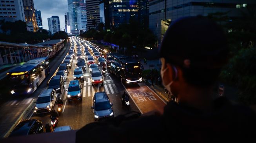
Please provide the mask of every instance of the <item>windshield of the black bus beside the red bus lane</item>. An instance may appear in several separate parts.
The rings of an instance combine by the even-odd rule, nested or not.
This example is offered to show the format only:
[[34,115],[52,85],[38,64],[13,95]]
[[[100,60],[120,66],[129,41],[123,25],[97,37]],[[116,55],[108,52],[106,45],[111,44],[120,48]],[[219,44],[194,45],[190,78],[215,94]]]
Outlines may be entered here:
[[136,78],[142,75],[139,63],[126,64],[125,69],[126,69],[127,76],[131,78]]

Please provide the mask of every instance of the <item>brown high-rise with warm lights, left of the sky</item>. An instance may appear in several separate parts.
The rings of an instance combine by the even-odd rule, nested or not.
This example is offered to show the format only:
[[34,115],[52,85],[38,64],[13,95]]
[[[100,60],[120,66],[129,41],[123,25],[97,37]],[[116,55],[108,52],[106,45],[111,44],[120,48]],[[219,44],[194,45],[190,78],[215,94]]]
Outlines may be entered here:
[[38,30],[38,27],[36,24],[36,10],[34,9],[34,0],[23,0],[23,6],[25,21],[27,23],[27,26],[29,27],[29,31],[36,32]]

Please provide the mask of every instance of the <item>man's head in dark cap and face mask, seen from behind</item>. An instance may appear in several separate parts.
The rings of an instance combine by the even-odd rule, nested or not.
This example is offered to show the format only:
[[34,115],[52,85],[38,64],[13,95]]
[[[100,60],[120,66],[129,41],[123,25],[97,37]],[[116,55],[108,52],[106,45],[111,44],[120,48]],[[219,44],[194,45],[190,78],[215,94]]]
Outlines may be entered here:
[[181,84],[204,88],[216,82],[227,61],[227,41],[214,21],[185,17],[171,23],[159,54],[163,84],[170,86],[167,89],[176,90]]

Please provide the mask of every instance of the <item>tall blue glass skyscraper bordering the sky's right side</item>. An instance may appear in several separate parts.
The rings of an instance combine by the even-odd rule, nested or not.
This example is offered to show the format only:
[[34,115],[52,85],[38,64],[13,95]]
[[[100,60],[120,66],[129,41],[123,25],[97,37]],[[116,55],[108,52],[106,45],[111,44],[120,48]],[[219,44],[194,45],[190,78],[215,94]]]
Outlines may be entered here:
[[80,3],[84,3],[84,0],[67,0],[69,10],[69,25],[71,30],[78,30],[77,27],[77,7]]

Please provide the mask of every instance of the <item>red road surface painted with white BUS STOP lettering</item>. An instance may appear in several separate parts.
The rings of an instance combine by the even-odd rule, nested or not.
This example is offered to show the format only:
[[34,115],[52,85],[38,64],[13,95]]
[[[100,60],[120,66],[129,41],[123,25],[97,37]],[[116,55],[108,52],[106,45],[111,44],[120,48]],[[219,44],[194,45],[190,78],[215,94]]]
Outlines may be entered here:
[[166,103],[144,83],[139,83],[138,85],[140,87],[130,87],[126,89],[140,111],[147,113],[149,111],[158,110],[160,113],[163,113],[163,108]]

